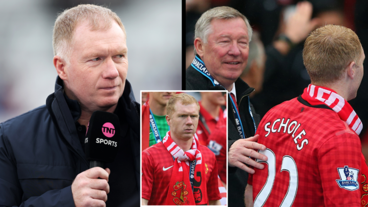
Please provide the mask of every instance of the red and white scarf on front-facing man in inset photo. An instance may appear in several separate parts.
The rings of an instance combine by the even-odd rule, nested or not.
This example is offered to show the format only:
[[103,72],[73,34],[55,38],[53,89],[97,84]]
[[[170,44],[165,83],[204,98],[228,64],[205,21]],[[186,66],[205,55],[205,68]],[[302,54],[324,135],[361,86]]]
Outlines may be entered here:
[[[199,151],[198,139],[193,137],[192,147],[186,152],[172,140],[170,131],[166,133],[162,143],[175,159],[165,205],[208,205],[205,163]],[[195,183],[193,183],[194,193],[187,170],[190,164],[189,161],[193,160],[196,160],[194,170]]]

